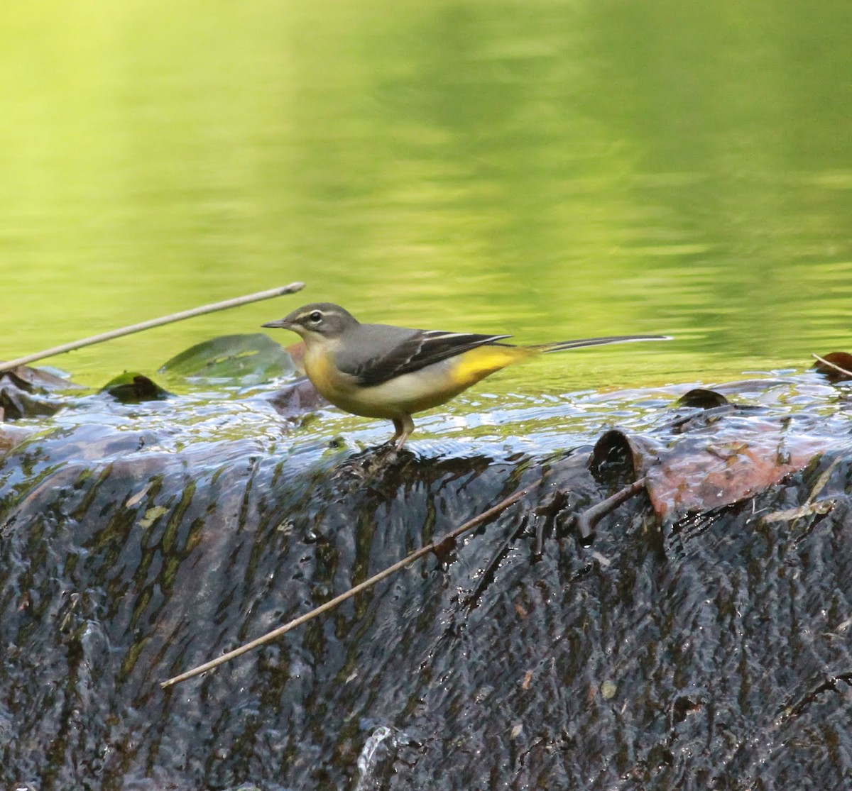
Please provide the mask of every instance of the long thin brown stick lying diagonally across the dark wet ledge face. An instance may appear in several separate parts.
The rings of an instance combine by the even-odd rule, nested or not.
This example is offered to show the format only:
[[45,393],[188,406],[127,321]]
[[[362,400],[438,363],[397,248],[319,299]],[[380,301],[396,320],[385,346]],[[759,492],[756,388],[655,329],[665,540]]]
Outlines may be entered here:
[[473,530],[478,524],[482,524],[487,519],[491,519],[493,516],[497,516],[498,513],[505,511],[510,505],[515,502],[518,502],[521,497],[529,494],[533,489],[535,489],[538,484],[541,483],[541,479],[538,479],[533,484],[529,484],[524,489],[518,490],[514,495],[509,495],[505,500],[498,502],[496,506],[490,507],[487,511],[483,511],[478,516],[475,516],[473,519],[470,519],[468,522],[465,522],[460,527],[457,527],[452,532],[447,533],[446,536],[440,539],[440,541],[432,542],[431,544],[427,544],[425,547],[420,547],[420,549],[415,550],[410,555],[407,555],[405,558],[398,560],[394,565],[388,566],[388,568],[379,571],[378,574],[371,576],[370,579],[361,582],[359,585],[356,585],[354,588],[349,588],[345,593],[341,593],[339,596],[335,596],[334,599],[330,599],[325,602],[324,605],[320,605],[316,607],[314,610],[310,612],[306,612],[303,616],[298,616],[294,618],[291,622],[285,623],[284,626],[279,626],[277,629],[273,629],[271,632],[264,634],[262,637],[252,640],[250,643],[245,643],[245,645],[240,645],[239,648],[235,648],[233,651],[228,651],[227,654],[222,654],[222,656],[217,656],[216,659],[210,660],[210,662],[204,662],[203,665],[199,665],[197,668],[193,668],[192,670],[187,670],[186,673],[181,673],[180,675],[175,676],[174,678],[169,679],[168,681],[160,682],[160,686],[165,689],[166,687],[170,687],[174,684],[180,684],[181,681],[186,681],[187,679],[193,678],[193,676],[197,676],[200,673],[206,673],[208,670],[212,670],[213,668],[217,668],[219,665],[224,662],[229,662],[230,660],[240,656],[241,654],[245,654],[247,651],[251,651],[256,648],[258,645],[263,645],[264,643],[268,643],[270,640],[276,639],[280,637],[282,634],[289,632],[291,629],[295,629],[297,626],[301,626],[302,623],[307,623],[308,621],[313,620],[315,617],[322,615],[324,612],[328,612],[328,610],[333,610],[337,605],[343,604],[347,599],[351,599],[353,596],[357,595],[361,591],[366,591],[367,588],[372,588],[377,582],[381,582],[386,576],[391,576],[395,574],[397,571],[404,569],[407,565],[411,565],[415,560],[422,558],[423,555],[427,555],[430,552],[435,552],[441,544],[445,542],[454,542],[458,536],[462,536],[463,533],[468,532],[468,530]]

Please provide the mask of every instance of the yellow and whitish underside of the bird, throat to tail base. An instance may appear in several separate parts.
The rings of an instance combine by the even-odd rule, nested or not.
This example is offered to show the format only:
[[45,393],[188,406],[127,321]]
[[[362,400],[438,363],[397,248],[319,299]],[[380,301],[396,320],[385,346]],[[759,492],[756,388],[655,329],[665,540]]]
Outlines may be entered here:
[[538,354],[537,349],[525,347],[477,347],[373,387],[355,385],[316,349],[305,353],[305,370],[314,387],[332,404],[354,415],[393,419],[443,404],[487,375],[534,354]]

